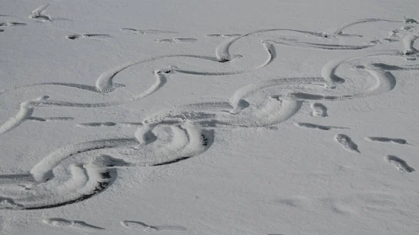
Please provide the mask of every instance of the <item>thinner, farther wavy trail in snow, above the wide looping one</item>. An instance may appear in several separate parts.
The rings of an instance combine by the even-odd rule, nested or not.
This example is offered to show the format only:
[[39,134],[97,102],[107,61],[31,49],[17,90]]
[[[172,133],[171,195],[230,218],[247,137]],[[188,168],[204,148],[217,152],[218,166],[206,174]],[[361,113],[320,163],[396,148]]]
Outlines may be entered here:
[[[47,5],[44,6],[45,9]],[[339,36],[341,35],[341,31],[343,29],[345,29],[346,27],[349,27],[351,25],[355,25],[355,24],[360,24],[360,23],[366,23],[366,22],[376,22],[376,21],[383,21],[383,22],[399,22],[399,21],[392,21],[392,20],[380,20],[380,19],[365,19],[365,20],[358,20],[356,22],[352,22],[348,25],[346,25],[345,27],[342,27],[341,29],[335,31],[332,35],[333,36]],[[136,62],[127,62],[125,64],[121,64],[119,66],[116,66],[113,69],[110,69],[109,71],[105,71],[104,73],[101,74],[101,76],[99,76],[99,78],[96,80],[96,85],[92,86],[92,85],[82,85],[82,84],[76,84],[76,83],[36,83],[36,84],[32,84],[32,85],[22,85],[20,87],[15,87],[13,89],[9,89],[9,90],[4,90],[2,92],[0,92],[0,94],[4,94],[6,92],[10,92],[13,90],[18,90],[24,87],[32,87],[32,86],[40,86],[40,85],[59,85],[59,86],[66,86],[66,87],[72,87],[72,88],[78,88],[81,90],[87,90],[90,92],[96,92],[99,94],[106,94],[106,93],[110,93],[113,92],[115,89],[119,88],[119,87],[124,87],[125,85],[123,84],[119,84],[119,83],[113,83],[113,79],[115,78],[115,76],[117,75],[117,73],[123,71],[124,69],[127,69],[131,66],[135,66],[138,64],[142,64],[145,62],[153,62],[159,59],[164,59],[164,58],[172,58],[172,57],[190,57],[190,58],[195,58],[195,59],[203,59],[203,60],[208,60],[208,61],[212,61],[212,62],[228,62],[232,59],[238,59],[241,56],[240,55],[235,55],[235,56],[231,56],[230,52],[229,52],[229,48],[230,45],[232,45],[233,43],[235,43],[238,39],[240,38],[244,38],[247,36],[251,36],[253,34],[260,34],[260,33],[264,33],[264,32],[272,32],[272,31],[291,31],[291,32],[296,32],[299,34],[303,34],[303,35],[309,35],[309,36],[316,36],[318,38],[325,38],[325,33],[317,33],[317,32],[312,32],[312,31],[302,31],[302,30],[297,30],[297,29],[262,29],[262,30],[258,30],[258,31],[253,31],[249,34],[244,34],[242,36],[237,36],[229,41],[226,41],[225,43],[221,43],[221,45],[219,45],[218,48],[216,48],[216,57],[207,57],[207,56],[199,56],[199,55],[163,55],[160,57],[152,57],[149,59],[142,59],[140,61],[136,61]],[[142,99],[144,97],[149,96],[150,94],[153,94],[154,92],[156,92],[157,90],[159,90],[160,87],[162,87],[165,83],[166,83],[166,79],[161,78],[161,76],[158,76],[157,74],[166,71],[166,73],[171,73],[173,71],[177,72],[177,73],[186,73],[186,74],[196,74],[196,75],[202,75],[202,76],[224,76],[224,75],[234,75],[234,74],[240,74],[240,73],[249,73],[251,71],[256,71],[258,69],[262,69],[263,67],[267,66],[268,64],[270,64],[270,62],[272,62],[272,60],[276,57],[276,52],[275,52],[275,48],[274,45],[272,43],[282,43],[284,44],[284,42],[280,42],[280,41],[263,41],[262,45],[263,48],[265,49],[265,51],[267,51],[267,59],[265,59],[265,62],[260,62],[260,63],[256,63],[256,66],[254,66],[253,68],[244,68],[242,70],[238,70],[238,71],[196,71],[196,70],[190,70],[190,69],[179,69],[177,68],[177,66],[170,66],[170,68],[168,69],[157,69],[156,71],[154,71],[155,73],[155,77],[156,77],[156,83],[154,83],[154,85],[152,85],[152,87],[149,87],[148,90],[146,90],[145,92],[142,92],[141,94],[137,94],[133,97],[130,97],[129,99],[123,99],[123,100],[119,100],[119,101],[108,101],[108,102],[103,102],[103,103],[95,103],[95,104],[88,104],[88,103],[77,103],[77,102],[67,102],[67,101],[54,101],[54,100],[49,100],[47,102],[45,102],[43,105],[44,106],[70,106],[70,107],[76,107],[76,108],[94,108],[94,107],[104,107],[104,106],[116,106],[119,104],[125,104],[127,102],[130,101],[136,101],[138,99]],[[287,45],[287,44],[285,44]],[[327,45],[327,44],[316,44],[316,43],[302,43],[302,42],[297,42],[298,47],[302,47],[302,48],[317,48],[317,49],[322,49],[322,50],[356,50],[356,49],[363,49],[363,48],[367,48],[369,46],[372,45],[367,45],[367,46],[363,46],[363,45]],[[288,45],[289,46],[289,45]],[[294,46],[294,45],[291,45]]]

